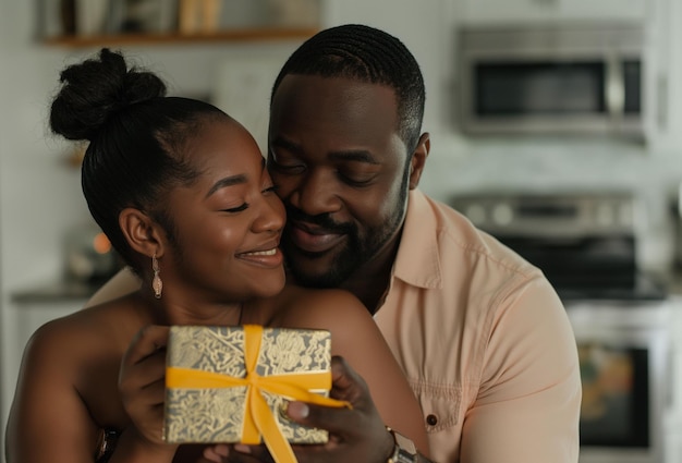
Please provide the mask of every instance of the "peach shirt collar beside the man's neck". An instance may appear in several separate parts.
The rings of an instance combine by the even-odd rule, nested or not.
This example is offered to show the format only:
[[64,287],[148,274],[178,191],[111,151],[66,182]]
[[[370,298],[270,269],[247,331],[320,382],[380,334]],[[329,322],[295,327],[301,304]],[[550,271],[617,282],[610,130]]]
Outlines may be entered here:
[[441,288],[438,222],[426,195],[410,191],[393,276],[418,288]]

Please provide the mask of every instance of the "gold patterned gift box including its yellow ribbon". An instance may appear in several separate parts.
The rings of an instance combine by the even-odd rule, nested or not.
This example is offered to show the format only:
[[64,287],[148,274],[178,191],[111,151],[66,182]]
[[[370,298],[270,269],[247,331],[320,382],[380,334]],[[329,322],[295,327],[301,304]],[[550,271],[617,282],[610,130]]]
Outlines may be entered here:
[[[290,452],[288,442],[326,442],[327,431],[290,422],[282,412],[291,400],[346,405],[328,398],[330,349],[330,333],[325,330],[171,327],[166,441],[257,444],[263,440],[271,453]],[[281,447],[289,450],[277,450]]]

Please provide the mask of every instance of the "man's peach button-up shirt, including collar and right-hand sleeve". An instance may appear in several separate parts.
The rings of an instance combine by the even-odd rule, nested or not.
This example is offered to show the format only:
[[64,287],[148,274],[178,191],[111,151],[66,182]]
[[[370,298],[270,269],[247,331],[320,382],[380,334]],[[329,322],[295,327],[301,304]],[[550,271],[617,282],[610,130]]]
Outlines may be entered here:
[[375,320],[419,398],[435,461],[577,462],[577,349],[557,293],[419,191]]

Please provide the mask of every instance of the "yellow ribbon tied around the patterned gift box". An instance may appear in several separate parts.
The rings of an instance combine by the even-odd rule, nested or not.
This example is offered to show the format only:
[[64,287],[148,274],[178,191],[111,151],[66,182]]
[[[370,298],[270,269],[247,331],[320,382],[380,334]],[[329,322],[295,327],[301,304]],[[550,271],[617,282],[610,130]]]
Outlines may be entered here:
[[175,389],[217,389],[246,387],[246,413],[242,443],[258,444],[260,436],[270,454],[278,463],[296,463],[296,456],[261,391],[283,395],[289,400],[309,402],[326,406],[348,406],[350,403],[330,399],[309,391],[309,389],[331,388],[331,375],[328,371],[301,371],[284,375],[259,376],[256,371],[263,327],[244,325],[244,363],[246,376],[235,378],[220,373],[205,371],[192,368],[168,367],[166,370],[166,387]]

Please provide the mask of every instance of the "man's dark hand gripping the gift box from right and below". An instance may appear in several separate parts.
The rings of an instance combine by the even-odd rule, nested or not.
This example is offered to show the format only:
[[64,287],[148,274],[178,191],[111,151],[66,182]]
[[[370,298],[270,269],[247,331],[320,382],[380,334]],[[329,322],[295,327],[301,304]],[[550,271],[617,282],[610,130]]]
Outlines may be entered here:
[[[377,412],[365,381],[343,358],[331,361],[334,399],[350,402],[353,409],[332,409],[303,402],[291,402],[289,417],[299,424],[327,429],[325,444],[292,446],[300,463],[385,463],[391,455],[393,438]],[[214,446],[204,455],[217,463],[271,462],[264,446]]]

